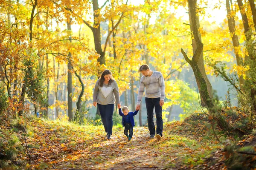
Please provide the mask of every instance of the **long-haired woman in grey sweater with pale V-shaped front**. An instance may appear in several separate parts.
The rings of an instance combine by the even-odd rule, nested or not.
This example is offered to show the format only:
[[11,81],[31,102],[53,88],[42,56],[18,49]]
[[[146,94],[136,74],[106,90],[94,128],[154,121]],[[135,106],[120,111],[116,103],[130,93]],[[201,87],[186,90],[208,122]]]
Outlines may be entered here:
[[98,104],[102,123],[107,132],[107,139],[111,139],[113,127],[113,112],[115,101],[118,108],[121,108],[119,89],[112,77],[110,70],[103,71],[100,79],[97,80],[93,91],[93,105]]

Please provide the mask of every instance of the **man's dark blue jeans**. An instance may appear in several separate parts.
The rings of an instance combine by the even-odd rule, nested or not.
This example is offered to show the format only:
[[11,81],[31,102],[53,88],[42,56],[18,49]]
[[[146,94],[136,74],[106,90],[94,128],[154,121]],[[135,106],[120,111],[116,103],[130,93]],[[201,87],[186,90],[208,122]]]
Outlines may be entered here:
[[157,134],[162,136],[163,133],[163,118],[162,118],[162,106],[160,106],[160,97],[159,98],[148,98],[145,97],[147,114],[148,114],[148,130],[150,135],[155,135],[156,130],[153,120],[153,109],[155,109],[157,117]]

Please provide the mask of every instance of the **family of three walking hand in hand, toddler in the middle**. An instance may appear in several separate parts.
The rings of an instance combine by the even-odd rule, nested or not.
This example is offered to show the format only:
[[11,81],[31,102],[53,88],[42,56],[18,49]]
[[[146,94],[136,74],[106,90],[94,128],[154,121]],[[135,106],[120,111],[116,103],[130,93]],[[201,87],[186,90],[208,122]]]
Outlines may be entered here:
[[[137,96],[136,111],[129,112],[129,108],[124,106],[121,110],[121,102],[119,98],[119,89],[116,81],[112,77],[110,70],[102,72],[101,77],[97,80],[93,91],[93,105],[98,105],[99,113],[102,119],[107,139],[111,139],[113,127],[113,111],[115,102],[119,109],[119,115],[122,116],[122,125],[125,127],[124,134],[128,140],[133,136],[134,115],[140,110],[140,102],[145,88],[145,103],[148,118],[149,138],[154,139],[155,135],[158,140],[161,139],[163,133],[162,106],[164,104],[164,79],[163,75],[158,71],[152,71],[148,65],[141,65],[138,72],[142,73],[140,79],[140,87]],[[154,113],[157,118],[157,128],[154,125]],[[128,134],[129,130],[129,134]]]

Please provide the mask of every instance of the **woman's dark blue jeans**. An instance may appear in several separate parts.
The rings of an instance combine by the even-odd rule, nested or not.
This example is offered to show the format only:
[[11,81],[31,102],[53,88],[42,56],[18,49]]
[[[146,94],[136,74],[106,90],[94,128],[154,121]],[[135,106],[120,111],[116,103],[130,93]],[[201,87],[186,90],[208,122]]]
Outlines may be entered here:
[[100,105],[98,103],[102,123],[108,135],[112,135],[114,106],[115,104]]

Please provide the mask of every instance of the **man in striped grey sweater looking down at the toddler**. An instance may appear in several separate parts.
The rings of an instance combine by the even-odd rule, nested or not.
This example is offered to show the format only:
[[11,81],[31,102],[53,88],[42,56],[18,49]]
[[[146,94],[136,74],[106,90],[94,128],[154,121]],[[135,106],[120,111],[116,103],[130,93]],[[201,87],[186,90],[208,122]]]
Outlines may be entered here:
[[157,117],[157,139],[161,139],[163,133],[162,106],[164,103],[164,79],[162,73],[151,71],[148,65],[141,65],[138,72],[142,73],[140,79],[140,88],[137,97],[136,110],[140,110],[140,102],[145,88],[145,102],[148,115],[148,130],[150,138],[153,139],[156,130],[153,120],[153,109]]

